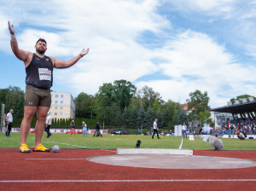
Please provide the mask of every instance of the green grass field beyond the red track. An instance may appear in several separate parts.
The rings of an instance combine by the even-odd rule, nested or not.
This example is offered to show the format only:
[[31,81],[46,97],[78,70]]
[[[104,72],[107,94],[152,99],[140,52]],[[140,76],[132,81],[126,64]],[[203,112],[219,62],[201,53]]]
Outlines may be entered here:
[[[30,133],[27,137],[27,145],[32,148],[35,134]],[[119,136],[103,135],[103,137],[83,137],[83,135],[70,136],[67,134],[52,134],[50,138],[45,138],[42,143],[45,147],[52,148],[59,145],[61,148],[135,148],[137,140],[142,141],[141,148],[179,148],[182,137],[161,136],[161,139],[151,139],[151,136]],[[256,150],[256,140],[246,139],[222,139],[224,143],[223,150]],[[0,133],[0,148],[19,148],[20,133],[12,133],[11,137],[6,137]],[[193,150],[212,150],[208,142],[201,141],[201,138],[195,137],[195,141],[189,141],[189,138],[183,139],[183,147]]]

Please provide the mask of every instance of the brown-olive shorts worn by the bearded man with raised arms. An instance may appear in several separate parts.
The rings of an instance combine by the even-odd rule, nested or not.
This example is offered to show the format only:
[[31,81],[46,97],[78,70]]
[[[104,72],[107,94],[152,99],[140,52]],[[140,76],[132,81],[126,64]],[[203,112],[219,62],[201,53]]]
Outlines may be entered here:
[[26,92],[24,96],[25,106],[43,106],[50,107],[51,96],[50,90],[42,90],[26,85]]

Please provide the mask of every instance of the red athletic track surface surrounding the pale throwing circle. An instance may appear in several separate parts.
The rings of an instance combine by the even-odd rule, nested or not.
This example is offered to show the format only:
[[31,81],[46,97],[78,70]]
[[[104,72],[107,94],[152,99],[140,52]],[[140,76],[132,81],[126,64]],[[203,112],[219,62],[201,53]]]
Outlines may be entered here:
[[[226,170],[162,170],[101,165],[87,160],[91,156],[114,153],[114,150],[99,149],[61,149],[61,153],[19,153],[18,149],[1,148],[0,190],[235,191],[255,190],[256,188],[256,167]],[[256,161],[256,151],[194,151],[194,154]],[[196,182],[196,180],[206,179],[229,179],[229,181]],[[234,179],[243,181],[230,181]],[[251,181],[247,181],[248,179]],[[38,182],[3,182],[21,180],[38,180]],[[56,182],[39,182],[44,180]],[[87,180],[92,182],[57,182],[58,180]],[[95,180],[179,180],[179,182],[93,182]]]

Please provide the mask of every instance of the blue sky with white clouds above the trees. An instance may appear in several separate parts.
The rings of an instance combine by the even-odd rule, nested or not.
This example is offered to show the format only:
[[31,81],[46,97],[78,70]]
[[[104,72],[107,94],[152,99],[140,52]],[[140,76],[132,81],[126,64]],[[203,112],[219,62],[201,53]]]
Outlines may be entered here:
[[0,2],[0,88],[25,89],[25,68],[9,46],[8,20],[20,49],[68,60],[55,69],[54,91],[94,95],[103,83],[126,79],[162,98],[184,103],[207,91],[211,107],[232,97],[256,96],[256,2],[245,0],[80,0]]

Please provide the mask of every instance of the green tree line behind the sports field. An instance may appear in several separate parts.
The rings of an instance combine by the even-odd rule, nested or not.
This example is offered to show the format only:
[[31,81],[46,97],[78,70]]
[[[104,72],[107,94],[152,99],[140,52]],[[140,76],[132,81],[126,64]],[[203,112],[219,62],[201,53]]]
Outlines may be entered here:
[[[195,121],[204,123],[209,118],[209,97],[207,92],[195,90],[187,100],[189,114],[183,110],[180,103],[172,100],[163,101],[160,93],[144,86],[141,90],[125,79],[113,83],[102,84],[96,95],[81,92],[75,97],[75,122],[78,126],[82,121],[89,127],[94,127],[96,121],[108,128],[149,129],[157,118],[161,129],[173,130],[175,124]],[[9,86],[0,89],[0,103],[5,104],[5,113],[12,108],[15,110],[14,123],[21,123],[23,117],[24,92],[18,87]],[[32,127],[36,119],[32,120]],[[54,119],[52,127],[68,128],[71,119]],[[18,125],[19,126],[19,125]]]

